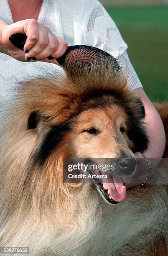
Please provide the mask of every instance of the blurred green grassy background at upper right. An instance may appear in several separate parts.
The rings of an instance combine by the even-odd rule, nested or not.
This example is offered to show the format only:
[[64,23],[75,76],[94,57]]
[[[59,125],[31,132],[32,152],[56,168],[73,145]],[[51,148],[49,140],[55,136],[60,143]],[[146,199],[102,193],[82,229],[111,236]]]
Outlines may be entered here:
[[100,0],[117,24],[144,90],[168,101],[168,0]]

